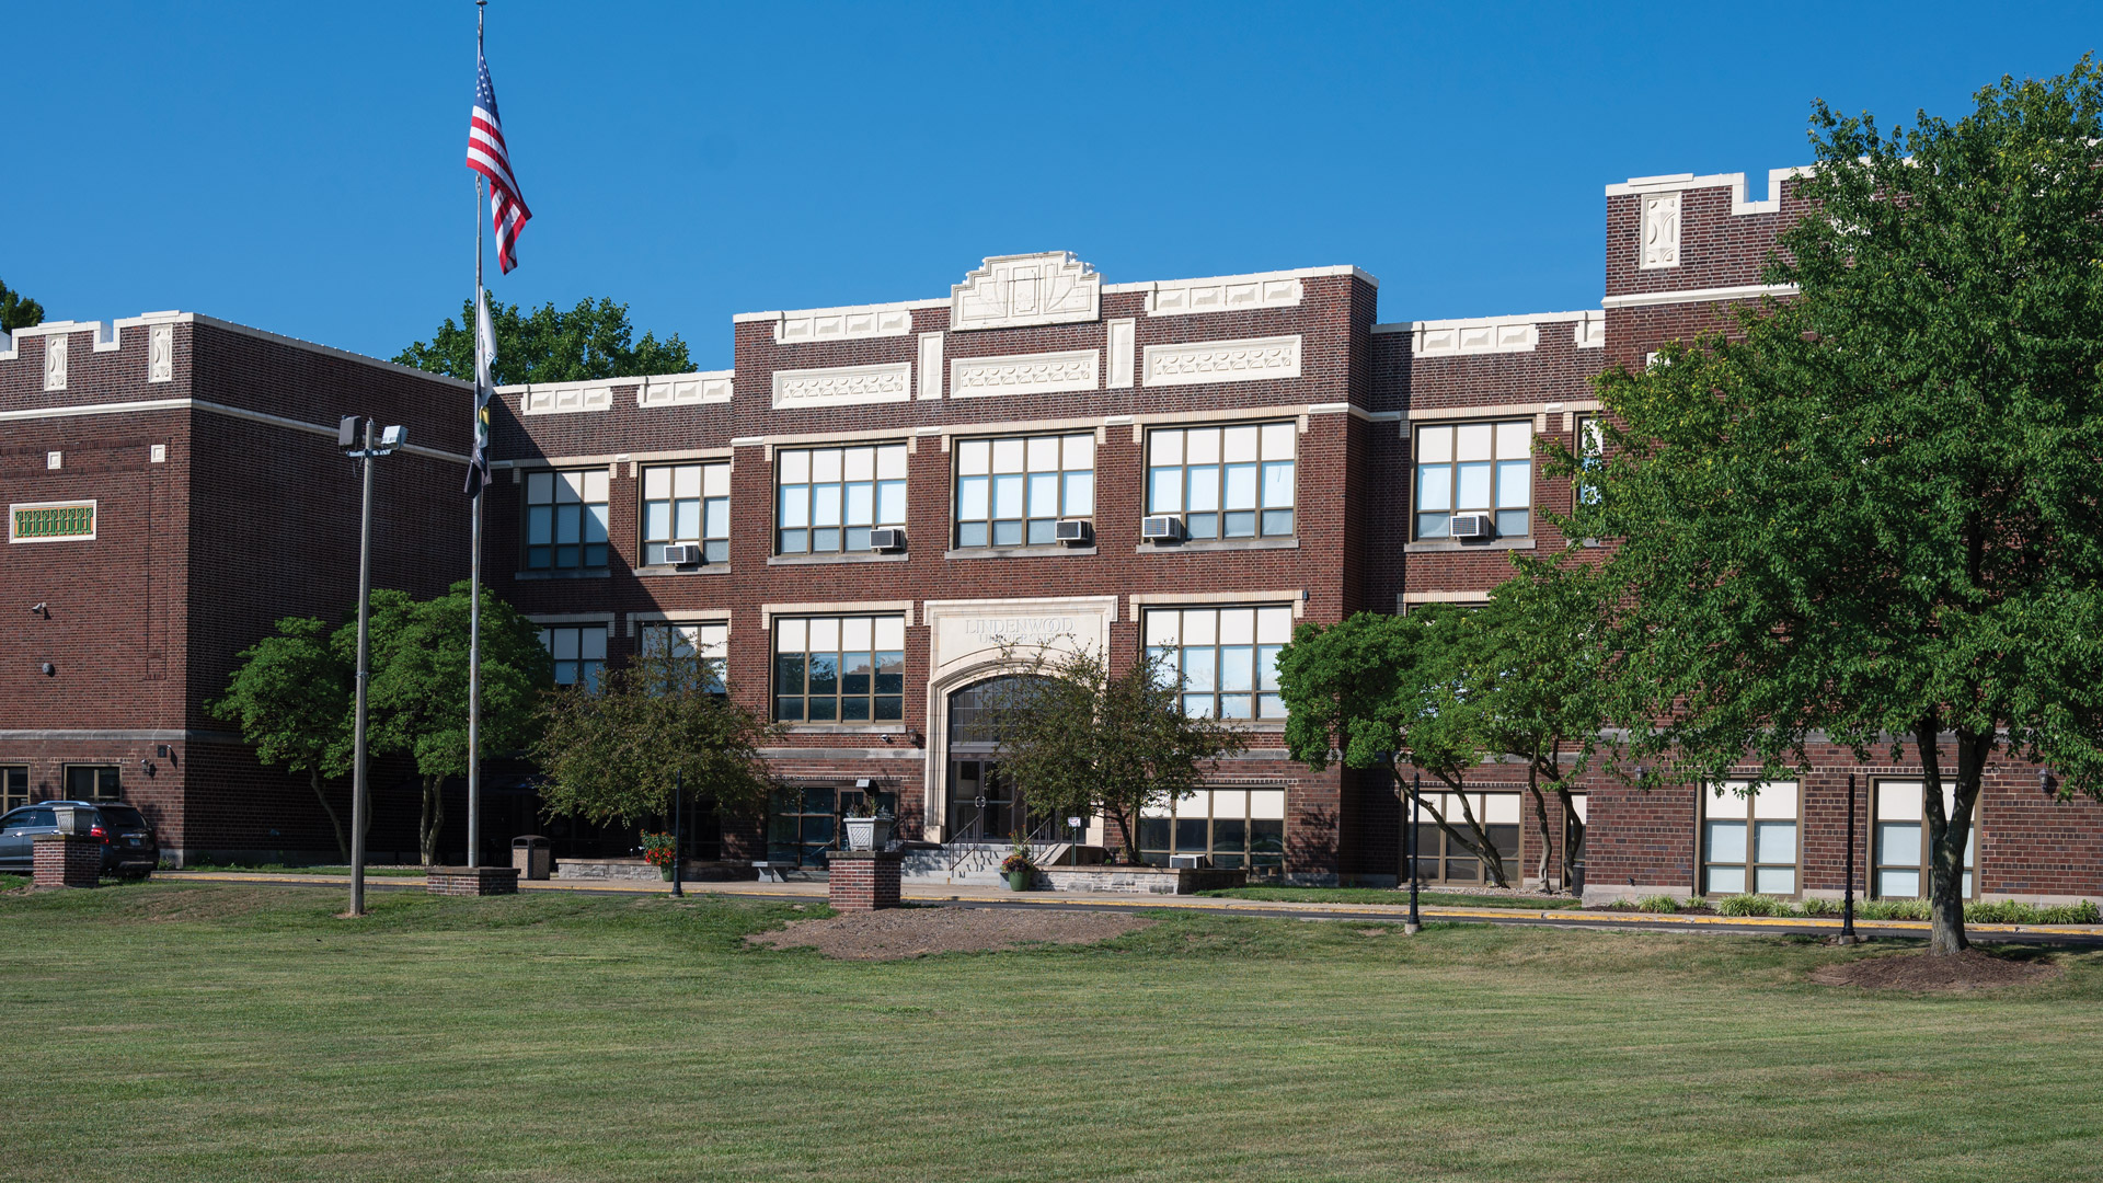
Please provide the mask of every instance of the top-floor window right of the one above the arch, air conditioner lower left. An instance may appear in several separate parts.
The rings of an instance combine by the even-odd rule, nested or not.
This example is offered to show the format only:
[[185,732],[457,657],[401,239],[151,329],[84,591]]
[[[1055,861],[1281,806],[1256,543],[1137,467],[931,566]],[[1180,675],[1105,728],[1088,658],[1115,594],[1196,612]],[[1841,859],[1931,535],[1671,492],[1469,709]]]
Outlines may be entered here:
[[1146,512],[1178,514],[1188,539],[1293,533],[1291,423],[1163,427],[1146,434]]

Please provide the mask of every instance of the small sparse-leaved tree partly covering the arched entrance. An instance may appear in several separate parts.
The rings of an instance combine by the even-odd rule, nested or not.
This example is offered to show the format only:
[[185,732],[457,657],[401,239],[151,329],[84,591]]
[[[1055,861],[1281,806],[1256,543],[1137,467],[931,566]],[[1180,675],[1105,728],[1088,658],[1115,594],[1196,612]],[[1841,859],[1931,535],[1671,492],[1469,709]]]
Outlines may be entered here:
[[1115,821],[1127,863],[1142,810],[1190,796],[1207,766],[1243,747],[1230,722],[1184,714],[1159,657],[1119,674],[1098,650],[1009,653],[1007,663],[1022,676],[993,703],[1001,773],[1035,810]]

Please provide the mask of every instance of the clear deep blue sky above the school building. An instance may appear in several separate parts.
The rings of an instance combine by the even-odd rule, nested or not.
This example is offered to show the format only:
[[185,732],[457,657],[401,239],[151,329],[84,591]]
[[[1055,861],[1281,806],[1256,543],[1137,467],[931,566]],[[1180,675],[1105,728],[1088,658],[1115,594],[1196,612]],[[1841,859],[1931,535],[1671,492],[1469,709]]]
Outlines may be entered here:
[[[984,255],[1108,282],[1356,263],[1382,320],[1592,307],[1602,185],[1809,158],[1813,97],[1958,116],[2086,4],[492,0],[534,221],[498,299],[923,299]],[[473,4],[21,4],[0,280],[391,356],[473,288]],[[494,250],[490,274],[494,276]]]

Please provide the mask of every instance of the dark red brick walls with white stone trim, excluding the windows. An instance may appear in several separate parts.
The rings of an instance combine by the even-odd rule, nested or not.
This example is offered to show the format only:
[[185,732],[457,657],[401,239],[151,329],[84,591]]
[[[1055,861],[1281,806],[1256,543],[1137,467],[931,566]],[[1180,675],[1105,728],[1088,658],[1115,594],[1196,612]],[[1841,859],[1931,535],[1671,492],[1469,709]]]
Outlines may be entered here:
[[[1741,177],[1611,185],[1605,299],[1577,312],[1380,324],[1377,282],[1352,267],[1108,284],[1073,257],[1043,255],[988,259],[948,299],[744,314],[732,324],[732,370],[501,392],[484,573],[547,627],[604,627],[610,663],[633,655],[650,623],[726,625],[732,693],[761,709],[776,690],[776,619],[902,617],[900,718],[784,724],[768,760],[803,813],[728,819],[721,853],[774,857],[784,840],[822,838],[822,802],[845,808],[856,791],[896,796],[904,838],[946,838],[961,800],[955,760],[967,756],[948,735],[948,695],[1003,671],[988,629],[1058,621],[1073,629],[1066,642],[1009,640],[1100,644],[1123,665],[1140,657],[1150,608],[1268,604],[1289,606],[1300,623],[1331,623],[1356,610],[1481,602],[1514,552],[1560,547],[1539,514],[1527,535],[1417,537],[1417,440],[1426,429],[1525,421],[1535,444],[1573,446],[1581,417],[1598,410],[1598,373],[1640,366],[1676,337],[1727,330],[1745,301],[1788,299],[1762,286],[1762,267],[1800,215],[1792,175],[1775,173],[1767,196]],[[154,381],[149,335],[160,330],[170,349]],[[44,389],[55,335],[69,343],[63,392]],[[311,791],[257,768],[204,703],[269,621],[334,621],[349,606],[355,474],[326,438],[339,413],[408,423],[412,444],[433,448],[383,461],[374,585],[431,594],[465,575],[465,392],[206,318],[139,318],[105,335],[40,326],[0,354],[0,488],[11,503],[97,497],[103,514],[93,543],[0,554],[0,579],[25,600],[0,613],[0,650],[11,657],[0,669],[0,764],[29,764],[38,798],[59,796],[69,762],[118,764],[126,800],[147,810],[172,853],[322,853],[330,838]],[[1014,373],[986,370],[988,358],[1012,360]],[[1037,377],[1018,379],[1024,370]],[[1291,535],[1142,539],[1150,432],[1245,423],[1291,425]],[[959,545],[959,442],[1043,434],[1094,436],[1094,539]],[[156,444],[160,463],[149,461]],[[776,554],[778,453],[843,444],[906,448],[904,549]],[[61,467],[46,467],[48,450],[65,453]],[[728,560],[673,568],[644,554],[641,490],[656,463],[730,465]],[[526,495],[551,472],[604,474],[604,566],[532,568]],[[1565,509],[1569,497],[1535,465],[1529,509]],[[48,619],[21,610],[40,600]],[[42,661],[57,674],[40,674]],[[1851,770],[1867,810],[1872,779],[1918,768],[1857,768],[1842,751],[1817,754],[1802,781],[1800,893],[1838,888],[1838,802]],[[376,850],[414,846],[404,781],[400,768],[374,775]],[[1394,785],[1291,762],[1274,722],[1251,724],[1249,749],[1222,762],[1216,787],[1237,802],[1283,794],[1289,878],[1382,884],[1403,871]],[[1485,766],[1470,787],[1518,794],[1514,876],[1537,876],[1546,848],[1556,878],[1575,834],[1560,806],[1550,798],[1548,817],[1537,817],[1523,770],[1508,764]],[[1695,890],[1691,787],[1586,789],[1592,895]],[[503,827],[534,825],[530,808],[519,796],[486,829],[492,861],[511,838]],[[2036,768],[1996,764],[1981,806],[1979,890],[2103,895],[2099,808],[2048,802]],[[448,802],[454,857],[463,815]],[[1867,813],[1857,821],[1867,842]]]

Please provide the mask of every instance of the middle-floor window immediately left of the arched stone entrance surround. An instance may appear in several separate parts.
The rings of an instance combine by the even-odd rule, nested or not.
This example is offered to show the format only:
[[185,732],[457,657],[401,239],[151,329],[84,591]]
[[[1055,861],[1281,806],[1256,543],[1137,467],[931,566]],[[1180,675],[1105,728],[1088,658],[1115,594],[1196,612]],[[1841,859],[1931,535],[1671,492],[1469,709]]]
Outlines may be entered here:
[[906,716],[904,617],[778,617],[774,718],[898,722]]

